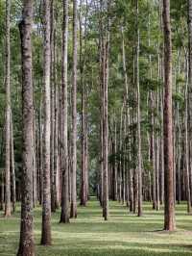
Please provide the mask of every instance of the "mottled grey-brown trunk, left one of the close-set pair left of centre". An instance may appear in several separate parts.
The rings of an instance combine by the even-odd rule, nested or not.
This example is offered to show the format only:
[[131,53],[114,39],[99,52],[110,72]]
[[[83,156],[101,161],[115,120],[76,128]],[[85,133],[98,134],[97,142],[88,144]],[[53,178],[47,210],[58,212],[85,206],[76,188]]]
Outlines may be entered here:
[[63,0],[63,23],[62,23],[62,99],[61,99],[61,121],[62,121],[62,149],[61,149],[61,214],[60,222],[69,222],[69,159],[68,159],[68,122],[67,122],[67,53],[68,53],[68,0]]

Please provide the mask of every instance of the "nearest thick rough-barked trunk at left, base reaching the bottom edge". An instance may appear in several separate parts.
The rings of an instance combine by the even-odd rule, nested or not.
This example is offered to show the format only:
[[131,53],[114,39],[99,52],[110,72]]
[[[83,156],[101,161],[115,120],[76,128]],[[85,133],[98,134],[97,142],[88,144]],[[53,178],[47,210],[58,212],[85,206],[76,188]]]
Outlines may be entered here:
[[32,81],[32,0],[23,2],[23,15],[19,23],[22,60],[22,182],[21,227],[17,255],[35,256],[33,225],[33,81]]

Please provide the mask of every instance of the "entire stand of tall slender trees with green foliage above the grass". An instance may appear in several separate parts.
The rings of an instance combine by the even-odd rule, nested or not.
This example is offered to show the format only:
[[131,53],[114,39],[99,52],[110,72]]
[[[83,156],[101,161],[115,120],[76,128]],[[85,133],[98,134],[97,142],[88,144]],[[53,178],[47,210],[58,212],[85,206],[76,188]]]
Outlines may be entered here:
[[0,1],[0,207],[21,201],[18,255],[35,255],[36,203],[49,245],[51,213],[77,218],[77,193],[97,193],[106,220],[108,199],[138,217],[164,203],[175,230],[176,201],[192,205],[192,1],[188,20],[171,2],[172,31],[169,0],[20,4]]

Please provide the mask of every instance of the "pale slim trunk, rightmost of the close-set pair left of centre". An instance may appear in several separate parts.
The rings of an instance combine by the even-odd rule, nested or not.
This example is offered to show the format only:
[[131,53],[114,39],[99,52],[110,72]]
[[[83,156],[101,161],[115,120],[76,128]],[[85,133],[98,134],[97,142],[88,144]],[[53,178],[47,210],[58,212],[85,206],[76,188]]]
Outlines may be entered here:
[[73,0],[73,81],[72,81],[72,196],[71,218],[77,218],[77,0]]

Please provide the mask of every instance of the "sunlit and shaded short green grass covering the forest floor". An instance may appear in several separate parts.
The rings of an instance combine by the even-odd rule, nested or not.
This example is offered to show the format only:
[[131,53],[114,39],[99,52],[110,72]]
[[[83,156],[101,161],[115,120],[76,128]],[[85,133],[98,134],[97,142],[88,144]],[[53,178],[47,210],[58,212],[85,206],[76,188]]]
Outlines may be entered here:
[[[137,218],[127,208],[110,202],[108,221],[101,218],[101,209],[95,200],[86,208],[78,208],[78,218],[70,224],[60,224],[60,212],[53,215],[53,245],[41,246],[40,208],[35,211],[36,255],[39,256],[146,256],[192,255],[192,217],[186,215],[186,205],[177,206],[177,231],[161,231],[162,211],[152,211],[144,205],[144,216]],[[18,209],[19,210],[19,209]],[[19,238],[17,211],[12,218],[0,218],[0,255],[15,255]]]

